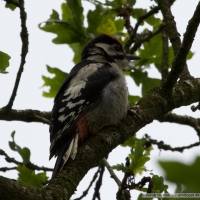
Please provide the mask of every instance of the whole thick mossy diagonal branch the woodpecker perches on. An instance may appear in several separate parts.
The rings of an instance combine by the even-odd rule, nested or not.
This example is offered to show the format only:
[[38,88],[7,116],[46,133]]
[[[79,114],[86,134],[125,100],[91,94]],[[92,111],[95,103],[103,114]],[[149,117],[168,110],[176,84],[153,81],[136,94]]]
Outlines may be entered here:
[[[89,137],[78,149],[75,160],[69,159],[45,188],[32,188],[0,177],[0,199],[69,199],[85,174],[116,146],[133,136],[139,129],[159,116],[180,106],[200,101],[200,79],[190,79],[175,85],[171,97],[164,98],[160,89],[153,89],[133,108],[134,112],[117,126],[103,128],[98,134]],[[10,193],[8,191],[15,191]]]

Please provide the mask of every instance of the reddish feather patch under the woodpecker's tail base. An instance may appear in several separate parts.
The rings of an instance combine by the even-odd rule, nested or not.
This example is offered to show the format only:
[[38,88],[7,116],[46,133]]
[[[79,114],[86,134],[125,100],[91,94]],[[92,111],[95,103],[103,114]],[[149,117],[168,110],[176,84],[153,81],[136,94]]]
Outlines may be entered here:
[[80,118],[80,120],[77,122],[76,126],[78,129],[79,142],[83,142],[87,138],[88,131],[89,131],[85,116]]

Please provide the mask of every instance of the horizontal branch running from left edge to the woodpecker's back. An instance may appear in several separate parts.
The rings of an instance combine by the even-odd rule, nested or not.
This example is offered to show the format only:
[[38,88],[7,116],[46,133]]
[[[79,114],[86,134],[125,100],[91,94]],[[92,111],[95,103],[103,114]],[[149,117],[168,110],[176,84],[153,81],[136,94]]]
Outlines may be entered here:
[[41,112],[39,110],[7,110],[0,109],[0,120],[5,121],[23,121],[23,122],[41,122],[50,123],[51,112]]

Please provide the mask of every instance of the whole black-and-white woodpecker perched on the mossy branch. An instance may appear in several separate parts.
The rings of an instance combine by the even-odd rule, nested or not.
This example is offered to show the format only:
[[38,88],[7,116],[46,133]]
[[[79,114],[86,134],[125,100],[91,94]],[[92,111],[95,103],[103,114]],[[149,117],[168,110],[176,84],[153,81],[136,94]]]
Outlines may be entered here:
[[52,178],[78,146],[127,114],[128,91],[123,69],[139,57],[124,51],[114,37],[101,34],[83,48],[81,61],[62,83],[54,100],[50,123],[50,157],[57,157]]

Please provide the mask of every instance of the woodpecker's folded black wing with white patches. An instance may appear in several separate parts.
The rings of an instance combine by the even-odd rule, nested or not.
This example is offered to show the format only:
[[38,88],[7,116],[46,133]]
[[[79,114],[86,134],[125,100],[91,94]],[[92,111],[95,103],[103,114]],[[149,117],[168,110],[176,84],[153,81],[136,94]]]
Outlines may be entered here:
[[106,85],[115,78],[110,69],[108,63],[82,61],[63,82],[52,110],[50,158],[58,154],[63,138],[65,143],[72,139],[70,130],[95,104]]

